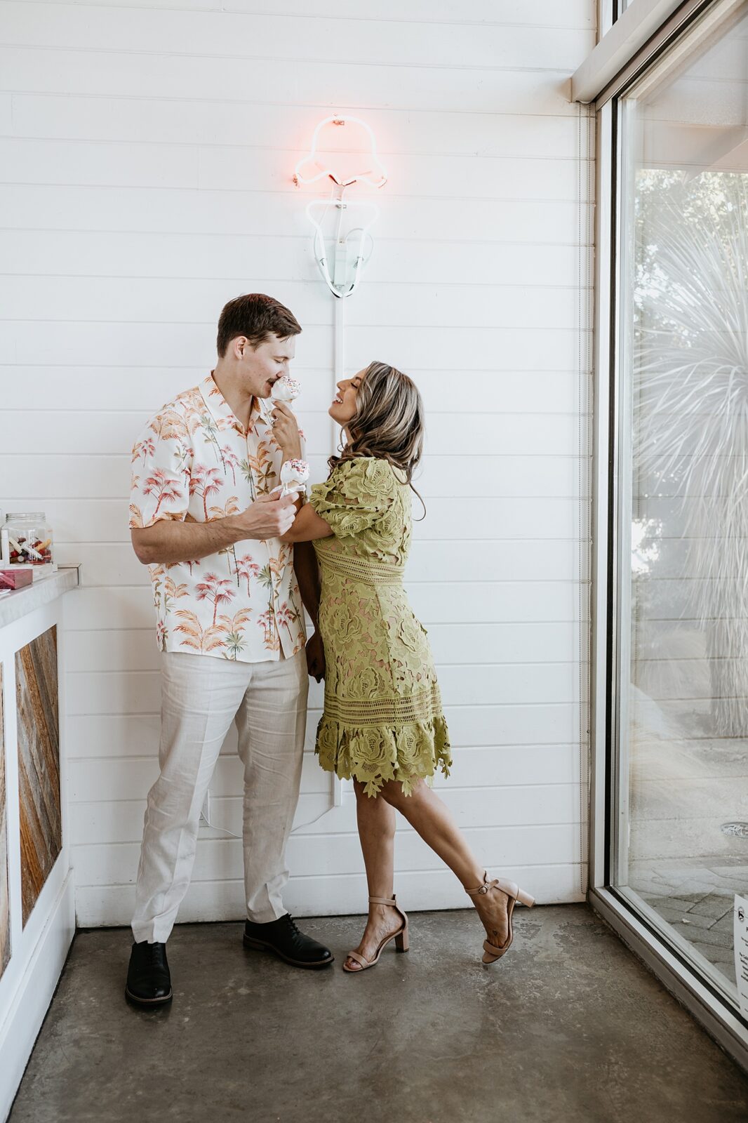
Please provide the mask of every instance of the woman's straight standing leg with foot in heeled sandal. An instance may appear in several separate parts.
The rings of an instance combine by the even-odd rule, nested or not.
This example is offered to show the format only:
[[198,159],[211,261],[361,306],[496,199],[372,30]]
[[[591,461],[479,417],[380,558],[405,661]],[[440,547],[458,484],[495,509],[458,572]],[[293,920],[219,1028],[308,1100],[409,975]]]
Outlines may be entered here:
[[[358,780],[354,780],[354,791],[368,895],[390,898],[394,870],[395,813],[381,796],[370,798],[364,792],[364,785]],[[372,959],[382,940],[396,932],[400,924],[400,916],[391,905],[370,905],[366,929],[355,950],[364,959]],[[352,970],[362,970],[361,964],[355,959],[347,959],[346,965]]]

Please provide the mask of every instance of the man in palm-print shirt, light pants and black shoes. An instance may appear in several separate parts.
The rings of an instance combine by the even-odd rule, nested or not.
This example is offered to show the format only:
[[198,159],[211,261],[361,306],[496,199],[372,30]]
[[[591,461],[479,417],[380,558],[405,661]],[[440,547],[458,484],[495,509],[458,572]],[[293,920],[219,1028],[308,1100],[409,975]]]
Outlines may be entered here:
[[[147,424],[133,450],[130,529],[149,567],[161,649],[161,775],[145,814],[126,996],[172,997],[166,940],[190,884],[200,812],[236,719],[244,764],[244,942],[297,967],[332,962],[286,913],[285,844],[299,797],[308,667],[301,601],[317,620],[313,550],[280,541],[303,501],[279,497],[301,457],[292,410],[265,400],[301,328],[261,293],[229,301],[216,369]],[[293,550],[293,553],[292,553]],[[300,600],[301,597],[301,600]]]

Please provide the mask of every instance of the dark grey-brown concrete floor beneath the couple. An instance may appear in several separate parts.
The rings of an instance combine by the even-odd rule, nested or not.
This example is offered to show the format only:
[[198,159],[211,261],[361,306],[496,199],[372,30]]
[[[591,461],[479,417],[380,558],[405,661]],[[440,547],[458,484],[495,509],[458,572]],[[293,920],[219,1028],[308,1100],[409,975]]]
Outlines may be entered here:
[[125,1004],[129,933],[80,932],[11,1123],[745,1123],[748,1077],[586,905],[518,910],[480,962],[468,912],[417,913],[411,950],[340,970],[356,917],[303,928],[332,968],[241,947],[240,924],[168,944],[171,1010]]

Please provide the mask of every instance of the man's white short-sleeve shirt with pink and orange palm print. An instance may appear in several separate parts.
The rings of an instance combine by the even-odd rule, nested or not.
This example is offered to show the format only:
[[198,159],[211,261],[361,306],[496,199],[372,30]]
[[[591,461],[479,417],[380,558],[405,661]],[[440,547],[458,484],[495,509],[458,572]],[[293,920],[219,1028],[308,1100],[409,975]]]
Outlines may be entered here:
[[[133,449],[130,528],[237,514],[280,483],[283,455],[270,407],[255,399],[248,429],[212,375],[164,405]],[[193,562],[149,566],[162,651],[240,663],[288,658],[304,646],[293,547],[247,539]]]

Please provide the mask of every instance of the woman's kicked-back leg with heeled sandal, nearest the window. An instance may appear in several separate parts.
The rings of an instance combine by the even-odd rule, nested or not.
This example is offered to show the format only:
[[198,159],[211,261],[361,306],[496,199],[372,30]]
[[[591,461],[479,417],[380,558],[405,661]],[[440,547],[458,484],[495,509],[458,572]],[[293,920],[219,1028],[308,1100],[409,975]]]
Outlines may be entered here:
[[[402,784],[390,780],[382,788],[378,798],[382,796],[404,815],[466,889],[475,889],[483,884],[485,868],[468,847],[447,805],[422,779],[414,780],[412,795],[403,795]],[[503,944],[509,935],[507,895],[489,893],[471,900],[491,942]]]

